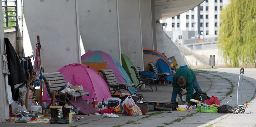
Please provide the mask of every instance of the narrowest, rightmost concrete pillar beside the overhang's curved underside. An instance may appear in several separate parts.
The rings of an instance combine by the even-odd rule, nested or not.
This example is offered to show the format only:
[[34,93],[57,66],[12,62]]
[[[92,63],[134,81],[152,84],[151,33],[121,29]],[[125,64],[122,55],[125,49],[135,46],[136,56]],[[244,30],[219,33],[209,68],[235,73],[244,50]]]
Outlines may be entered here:
[[156,41],[156,21],[155,21],[155,0],[151,0],[151,16],[152,16],[152,30],[153,30],[153,50],[158,51]]

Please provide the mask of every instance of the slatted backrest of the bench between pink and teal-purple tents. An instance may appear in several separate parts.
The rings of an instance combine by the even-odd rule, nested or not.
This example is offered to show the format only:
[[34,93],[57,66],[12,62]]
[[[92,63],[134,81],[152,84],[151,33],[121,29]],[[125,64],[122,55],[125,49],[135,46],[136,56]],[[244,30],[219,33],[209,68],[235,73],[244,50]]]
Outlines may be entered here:
[[99,72],[102,73],[103,79],[108,84],[108,86],[115,86],[120,84],[112,69],[99,69]]

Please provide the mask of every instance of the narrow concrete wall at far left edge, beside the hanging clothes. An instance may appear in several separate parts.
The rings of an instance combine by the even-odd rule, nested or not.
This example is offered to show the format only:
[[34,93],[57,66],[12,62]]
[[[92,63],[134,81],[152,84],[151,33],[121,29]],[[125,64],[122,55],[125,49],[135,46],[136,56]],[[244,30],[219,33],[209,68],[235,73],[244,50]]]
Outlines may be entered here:
[[[0,3],[2,6],[2,2]],[[3,22],[3,19],[1,19]],[[5,78],[3,74],[3,55],[4,55],[4,27],[0,25],[0,122],[5,122],[5,119],[9,118],[9,104],[6,99],[6,89],[5,89]]]

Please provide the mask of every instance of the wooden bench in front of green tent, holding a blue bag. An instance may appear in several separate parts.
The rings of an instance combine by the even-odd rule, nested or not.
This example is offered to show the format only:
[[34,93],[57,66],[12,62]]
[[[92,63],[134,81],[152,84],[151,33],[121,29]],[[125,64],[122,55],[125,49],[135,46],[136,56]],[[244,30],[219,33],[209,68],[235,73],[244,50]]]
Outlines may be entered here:
[[[141,71],[141,68],[139,66],[131,66],[131,68],[134,69],[136,77],[139,80],[139,84],[136,86],[136,89],[139,87],[139,90],[141,90],[141,86],[143,84],[146,84],[146,85],[150,86],[151,92],[153,92],[153,88],[151,87],[151,85],[155,85],[154,81],[157,80],[157,79],[155,79],[155,78],[145,78],[145,79],[143,79],[139,75],[139,71]],[[156,85],[155,85],[155,88],[157,90]]]

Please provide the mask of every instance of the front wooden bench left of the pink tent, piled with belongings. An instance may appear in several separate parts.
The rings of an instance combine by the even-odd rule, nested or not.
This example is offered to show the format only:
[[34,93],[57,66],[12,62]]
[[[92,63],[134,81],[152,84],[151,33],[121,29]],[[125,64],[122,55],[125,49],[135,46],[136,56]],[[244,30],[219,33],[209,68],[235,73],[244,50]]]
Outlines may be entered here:
[[[65,77],[63,76],[63,74],[61,74],[59,72],[44,73],[43,79],[44,79],[44,83],[47,88],[48,95],[51,97],[51,103],[48,104],[46,109],[48,109],[51,104],[55,105],[55,102],[68,104],[67,99],[74,99],[76,97],[82,97],[83,95],[89,96],[89,94],[90,94],[90,92],[88,92],[86,90],[76,91],[75,93],[55,94],[57,91],[61,91],[62,87],[66,86]],[[55,98],[57,100],[55,100]]]

